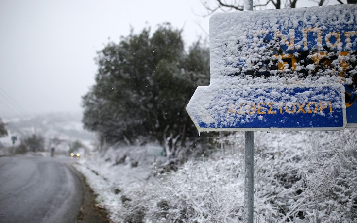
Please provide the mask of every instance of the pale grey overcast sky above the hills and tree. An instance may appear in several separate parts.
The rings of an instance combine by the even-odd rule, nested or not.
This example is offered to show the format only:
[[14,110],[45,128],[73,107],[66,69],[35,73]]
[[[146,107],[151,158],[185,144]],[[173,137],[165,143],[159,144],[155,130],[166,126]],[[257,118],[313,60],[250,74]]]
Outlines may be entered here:
[[0,0],[0,118],[82,110],[96,52],[157,24],[208,38],[200,0]]

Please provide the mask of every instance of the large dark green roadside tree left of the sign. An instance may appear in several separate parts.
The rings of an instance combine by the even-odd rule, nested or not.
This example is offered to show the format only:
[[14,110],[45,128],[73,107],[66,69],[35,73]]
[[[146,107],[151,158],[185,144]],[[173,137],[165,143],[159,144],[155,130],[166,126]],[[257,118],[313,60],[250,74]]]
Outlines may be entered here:
[[198,85],[209,81],[209,51],[200,42],[184,51],[170,24],[131,33],[98,52],[96,84],[83,97],[86,129],[101,139],[133,143],[147,137],[175,156],[197,131],[185,111]]

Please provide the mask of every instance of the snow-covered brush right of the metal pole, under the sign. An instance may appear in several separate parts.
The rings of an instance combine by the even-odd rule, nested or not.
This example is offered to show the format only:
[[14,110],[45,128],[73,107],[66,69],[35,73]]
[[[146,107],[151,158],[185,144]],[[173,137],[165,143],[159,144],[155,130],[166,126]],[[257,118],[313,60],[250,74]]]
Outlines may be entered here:
[[357,220],[355,134],[297,132],[275,145],[261,142],[266,148],[255,154],[255,196],[276,210],[276,222]]

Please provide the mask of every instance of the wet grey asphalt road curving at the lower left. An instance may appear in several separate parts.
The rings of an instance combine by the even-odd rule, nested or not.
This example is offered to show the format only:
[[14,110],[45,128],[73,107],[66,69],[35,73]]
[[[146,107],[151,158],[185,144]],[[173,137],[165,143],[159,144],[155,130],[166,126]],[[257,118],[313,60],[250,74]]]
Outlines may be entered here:
[[74,223],[83,201],[74,161],[0,157],[0,223]]

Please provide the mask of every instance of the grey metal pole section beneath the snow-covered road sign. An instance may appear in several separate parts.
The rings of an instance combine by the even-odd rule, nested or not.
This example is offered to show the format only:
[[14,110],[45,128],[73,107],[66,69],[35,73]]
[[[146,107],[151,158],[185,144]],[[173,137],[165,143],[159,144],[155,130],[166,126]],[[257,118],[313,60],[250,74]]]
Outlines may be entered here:
[[254,132],[244,132],[245,136],[245,164],[244,164],[244,222],[253,223],[253,194],[254,194]]

